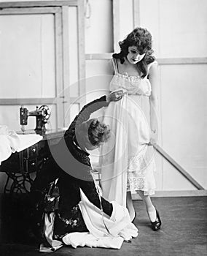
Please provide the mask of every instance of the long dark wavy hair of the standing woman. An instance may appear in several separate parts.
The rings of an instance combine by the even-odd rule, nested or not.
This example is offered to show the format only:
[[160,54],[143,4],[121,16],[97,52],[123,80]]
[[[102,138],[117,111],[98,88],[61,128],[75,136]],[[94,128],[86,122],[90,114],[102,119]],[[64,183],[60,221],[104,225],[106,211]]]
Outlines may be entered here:
[[155,57],[152,56],[152,35],[147,29],[136,28],[128,34],[128,36],[121,42],[120,53],[114,53],[114,59],[120,59],[121,64],[125,62],[125,56],[128,55],[129,46],[136,46],[140,54],[145,54],[141,61],[138,61],[136,67],[138,71],[142,73],[141,78],[147,75],[147,64],[155,61]]

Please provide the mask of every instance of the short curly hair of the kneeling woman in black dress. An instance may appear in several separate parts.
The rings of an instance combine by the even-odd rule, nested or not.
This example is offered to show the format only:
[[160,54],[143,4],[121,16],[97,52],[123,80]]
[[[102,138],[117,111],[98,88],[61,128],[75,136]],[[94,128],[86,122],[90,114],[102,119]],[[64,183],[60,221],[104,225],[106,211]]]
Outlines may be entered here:
[[101,143],[109,140],[110,129],[98,119],[92,119],[88,127],[88,138],[93,146],[100,146]]

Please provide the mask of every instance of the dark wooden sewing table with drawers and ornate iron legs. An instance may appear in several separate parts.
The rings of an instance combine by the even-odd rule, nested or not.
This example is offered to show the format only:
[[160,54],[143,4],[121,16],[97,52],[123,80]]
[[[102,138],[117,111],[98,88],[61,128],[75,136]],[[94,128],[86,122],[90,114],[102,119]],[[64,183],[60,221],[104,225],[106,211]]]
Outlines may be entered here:
[[[34,130],[17,132],[17,134],[35,134]],[[63,130],[47,130],[39,143],[20,152],[12,153],[1,162],[0,171],[7,173],[4,193],[29,192],[36,173],[41,169],[50,154],[50,146],[58,143],[63,137]]]

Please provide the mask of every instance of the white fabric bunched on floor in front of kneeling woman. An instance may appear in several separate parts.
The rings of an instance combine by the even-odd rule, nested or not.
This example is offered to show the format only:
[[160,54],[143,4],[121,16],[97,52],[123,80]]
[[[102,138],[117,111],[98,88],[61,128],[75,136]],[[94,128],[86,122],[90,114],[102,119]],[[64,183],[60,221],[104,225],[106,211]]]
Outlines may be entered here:
[[79,208],[90,233],[70,233],[63,238],[64,244],[74,248],[90,246],[120,249],[124,240],[138,236],[138,229],[130,222],[127,208],[112,202],[113,212],[109,217],[90,203],[82,189],[80,194]]

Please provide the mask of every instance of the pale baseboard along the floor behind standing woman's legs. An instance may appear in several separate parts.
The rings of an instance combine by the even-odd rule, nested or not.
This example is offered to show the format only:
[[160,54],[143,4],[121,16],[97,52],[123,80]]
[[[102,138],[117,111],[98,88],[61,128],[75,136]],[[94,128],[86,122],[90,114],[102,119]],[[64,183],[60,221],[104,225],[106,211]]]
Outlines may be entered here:
[[[200,190],[156,191],[155,195],[152,195],[151,197],[205,197],[205,196],[207,196],[207,190],[200,189]],[[133,194],[132,199],[140,200],[141,197],[139,197],[138,194]]]

